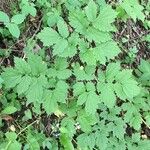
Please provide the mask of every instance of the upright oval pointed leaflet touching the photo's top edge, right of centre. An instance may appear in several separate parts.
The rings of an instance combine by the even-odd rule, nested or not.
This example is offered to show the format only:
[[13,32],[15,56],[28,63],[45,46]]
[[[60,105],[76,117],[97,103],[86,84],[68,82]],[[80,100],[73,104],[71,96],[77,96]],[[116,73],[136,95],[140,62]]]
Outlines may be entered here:
[[93,0],[90,0],[87,7],[85,8],[85,13],[89,21],[93,22],[97,15],[97,5]]

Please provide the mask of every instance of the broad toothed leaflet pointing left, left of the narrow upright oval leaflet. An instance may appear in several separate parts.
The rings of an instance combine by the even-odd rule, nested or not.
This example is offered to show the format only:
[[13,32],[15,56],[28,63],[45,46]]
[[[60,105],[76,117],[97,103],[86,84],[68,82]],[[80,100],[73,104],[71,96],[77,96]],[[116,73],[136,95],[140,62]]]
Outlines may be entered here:
[[43,42],[44,46],[51,46],[53,44],[56,44],[60,39],[59,34],[52,28],[48,28],[48,27],[45,27],[37,35],[37,37],[40,39],[41,42]]

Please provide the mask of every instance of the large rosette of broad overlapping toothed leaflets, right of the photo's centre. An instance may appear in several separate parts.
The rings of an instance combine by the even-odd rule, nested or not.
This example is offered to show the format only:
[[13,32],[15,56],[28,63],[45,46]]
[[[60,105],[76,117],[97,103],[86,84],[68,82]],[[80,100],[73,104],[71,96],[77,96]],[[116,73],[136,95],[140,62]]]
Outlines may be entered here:
[[[102,94],[102,101],[104,102],[103,99],[107,99],[107,104],[108,100],[113,103],[115,102],[116,98],[114,92],[122,100],[128,98],[133,99],[133,97],[140,93],[140,87],[138,86],[138,83],[135,81],[135,79],[133,79],[132,70],[128,69],[121,71],[119,63],[109,64],[107,66],[106,73],[100,74],[99,78],[100,82],[98,83],[98,90]],[[104,83],[105,80],[108,83]],[[103,84],[101,82],[103,82]],[[106,95],[107,92],[109,93],[108,95],[111,95],[110,97]]]

